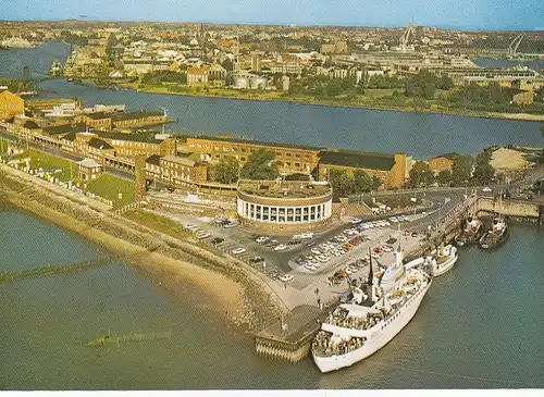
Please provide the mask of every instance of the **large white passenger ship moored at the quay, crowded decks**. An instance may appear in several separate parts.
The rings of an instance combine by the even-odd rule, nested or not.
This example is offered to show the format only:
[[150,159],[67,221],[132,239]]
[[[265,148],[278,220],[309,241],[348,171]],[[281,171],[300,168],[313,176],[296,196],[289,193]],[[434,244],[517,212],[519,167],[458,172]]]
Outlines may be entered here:
[[366,288],[354,287],[349,303],[339,305],[323,322],[312,342],[313,361],[321,372],[359,362],[385,346],[413,318],[431,286],[422,269],[428,259],[403,264],[400,247],[385,272],[372,272]]

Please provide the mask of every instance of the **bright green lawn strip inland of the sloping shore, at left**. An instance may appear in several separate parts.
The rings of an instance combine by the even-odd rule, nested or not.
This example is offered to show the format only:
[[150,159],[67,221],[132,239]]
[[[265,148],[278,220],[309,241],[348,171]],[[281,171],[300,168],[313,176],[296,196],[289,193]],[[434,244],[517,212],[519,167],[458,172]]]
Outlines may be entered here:
[[[2,141],[0,151],[2,148],[5,151],[5,140]],[[132,181],[122,179],[110,174],[101,174],[97,179],[85,184],[77,178],[77,164],[73,161],[35,149],[26,149],[12,159],[23,160],[28,158],[30,159],[32,169],[42,169],[47,172],[53,172],[54,177],[59,178],[59,181],[72,181],[74,184],[79,184],[85,190],[104,199],[112,200],[114,209],[134,201],[134,182]],[[120,194],[121,198],[119,196]]]

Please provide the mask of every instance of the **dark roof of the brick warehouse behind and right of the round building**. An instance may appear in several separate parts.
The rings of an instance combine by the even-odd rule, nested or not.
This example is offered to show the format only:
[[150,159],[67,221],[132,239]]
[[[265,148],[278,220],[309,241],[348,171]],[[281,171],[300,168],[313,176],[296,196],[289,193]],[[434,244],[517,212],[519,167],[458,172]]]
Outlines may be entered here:
[[323,150],[320,163],[351,166],[356,169],[390,171],[395,165],[395,156],[355,150]]

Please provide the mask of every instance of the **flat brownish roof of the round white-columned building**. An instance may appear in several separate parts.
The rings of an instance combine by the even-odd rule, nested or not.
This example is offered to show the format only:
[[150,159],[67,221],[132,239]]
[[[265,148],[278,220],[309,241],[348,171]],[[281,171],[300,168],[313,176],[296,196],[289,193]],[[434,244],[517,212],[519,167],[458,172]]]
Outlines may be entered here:
[[238,190],[248,195],[271,198],[310,198],[331,191],[329,184],[300,181],[240,181]]

